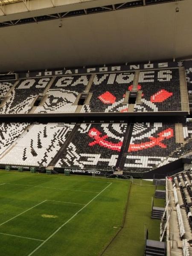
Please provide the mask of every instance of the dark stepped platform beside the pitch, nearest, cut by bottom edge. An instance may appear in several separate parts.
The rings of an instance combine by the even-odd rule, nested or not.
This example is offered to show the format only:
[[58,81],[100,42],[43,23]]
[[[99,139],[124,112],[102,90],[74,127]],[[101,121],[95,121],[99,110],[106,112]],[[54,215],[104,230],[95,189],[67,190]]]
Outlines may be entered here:
[[164,242],[147,239],[145,256],[165,256],[166,246]]

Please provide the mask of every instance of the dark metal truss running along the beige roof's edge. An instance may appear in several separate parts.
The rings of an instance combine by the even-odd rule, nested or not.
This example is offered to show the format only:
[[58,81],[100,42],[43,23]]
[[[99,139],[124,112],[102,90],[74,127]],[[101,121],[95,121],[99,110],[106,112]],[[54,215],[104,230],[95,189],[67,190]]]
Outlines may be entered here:
[[[112,11],[121,10],[121,9],[148,6],[148,5],[154,5],[154,4],[160,4],[160,3],[178,2],[178,1],[183,1],[183,0],[134,0],[132,2],[117,3],[117,4],[111,4],[108,6],[92,7],[88,9],[54,13],[50,15],[42,15],[42,16],[29,17],[29,18],[23,18],[23,19],[17,19],[17,20],[7,20],[4,22],[0,22],[0,28],[6,27],[6,26],[15,26],[15,25],[26,24],[26,23],[38,23],[46,20],[62,19],[67,17],[89,15],[89,14],[95,14],[95,13],[101,13],[101,12],[112,12]],[[0,10],[1,12],[3,12],[3,15],[6,15],[5,2],[6,3],[23,2],[27,12],[30,12],[29,0],[0,0]],[[50,2],[52,3],[52,7],[55,7],[54,0],[50,0]]]

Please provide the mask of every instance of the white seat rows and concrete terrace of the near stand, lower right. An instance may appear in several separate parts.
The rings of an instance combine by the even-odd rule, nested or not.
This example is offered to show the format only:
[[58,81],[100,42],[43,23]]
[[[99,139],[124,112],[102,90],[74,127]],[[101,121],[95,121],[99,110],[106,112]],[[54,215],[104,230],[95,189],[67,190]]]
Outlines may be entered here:
[[[190,176],[191,179],[191,176]],[[189,247],[191,244],[191,235],[190,235],[190,212],[186,212],[186,204],[183,204],[186,201],[190,202],[189,195],[187,195],[185,186],[187,186],[189,182],[189,177],[186,175],[186,172],[181,172],[178,175],[174,175],[172,177],[167,178],[167,192],[169,197],[169,209],[171,211],[171,217],[169,222],[169,229],[174,230],[174,238],[170,237],[170,244],[172,244],[172,253],[175,255],[184,255],[189,256]],[[172,194],[173,188],[173,194]],[[175,201],[175,202],[174,202]],[[176,207],[175,207],[176,206]],[[174,211],[176,208],[176,211]],[[188,208],[189,209],[189,208]],[[189,209],[190,210],[190,209]],[[176,222],[172,221],[175,217],[177,218]],[[167,220],[169,216],[167,216]],[[178,231],[177,231],[178,227]],[[177,243],[174,243],[174,240]],[[178,246],[179,241],[182,244],[182,247]],[[181,249],[181,250],[180,250]]]

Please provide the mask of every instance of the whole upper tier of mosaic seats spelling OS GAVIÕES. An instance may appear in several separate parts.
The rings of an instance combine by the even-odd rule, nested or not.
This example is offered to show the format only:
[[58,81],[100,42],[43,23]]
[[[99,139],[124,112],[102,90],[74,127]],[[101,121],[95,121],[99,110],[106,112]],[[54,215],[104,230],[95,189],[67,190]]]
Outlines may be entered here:
[[[35,108],[35,113],[75,113],[76,99],[85,92],[91,75],[57,76],[46,93],[45,101]],[[90,86],[91,99],[83,105],[81,113],[127,112],[128,91],[134,88],[135,72],[96,74]],[[49,78],[22,79],[10,93],[0,113],[29,113],[35,98],[44,93],[51,81]],[[2,84],[2,87],[1,87]],[[0,84],[1,95],[5,94],[12,82]],[[140,71],[137,91],[141,93],[140,103],[134,104],[134,112],[181,111],[179,70]],[[126,94],[127,93],[127,94]]]

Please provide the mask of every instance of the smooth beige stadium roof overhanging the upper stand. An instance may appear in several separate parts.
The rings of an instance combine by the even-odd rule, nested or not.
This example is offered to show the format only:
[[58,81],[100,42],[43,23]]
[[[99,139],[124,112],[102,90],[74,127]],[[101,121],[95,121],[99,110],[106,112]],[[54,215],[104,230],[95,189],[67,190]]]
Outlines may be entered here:
[[[67,4],[53,8],[52,2]],[[122,7],[123,0],[52,2],[30,0],[29,12],[23,3],[6,5],[10,14],[0,14],[0,23],[6,25],[0,28],[0,72],[192,57],[192,0],[136,8],[124,4],[126,8],[114,10],[111,6]],[[100,10],[98,6],[110,8],[85,12]],[[84,13],[79,15],[79,10]],[[74,15],[54,15],[61,13]],[[38,17],[49,20],[40,22]]]

